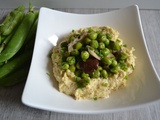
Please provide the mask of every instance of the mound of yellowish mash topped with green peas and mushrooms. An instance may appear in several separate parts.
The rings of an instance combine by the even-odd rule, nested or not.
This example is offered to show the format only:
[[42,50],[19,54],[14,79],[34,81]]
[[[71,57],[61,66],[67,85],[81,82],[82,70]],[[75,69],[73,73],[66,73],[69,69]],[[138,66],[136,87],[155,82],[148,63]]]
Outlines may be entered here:
[[111,27],[72,30],[53,48],[51,56],[59,91],[76,100],[109,97],[126,86],[135,67],[134,51]]

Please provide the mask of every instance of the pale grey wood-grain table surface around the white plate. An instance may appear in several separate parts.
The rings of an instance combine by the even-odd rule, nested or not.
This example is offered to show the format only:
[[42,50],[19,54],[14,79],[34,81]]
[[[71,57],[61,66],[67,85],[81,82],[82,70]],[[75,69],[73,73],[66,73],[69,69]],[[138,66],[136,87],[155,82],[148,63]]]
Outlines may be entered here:
[[[0,9],[0,21],[10,10]],[[61,8],[58,10],[85,14],[108,12],[113,9]],[[141,9],[140,14],[149,52],[160,76],[160,9]],[[98,115],[64,114],[30,108],[21,102],[24,85],[25,83],[11,88],[0,88],[0,120],[160,120],[160,101],[130,111]]]

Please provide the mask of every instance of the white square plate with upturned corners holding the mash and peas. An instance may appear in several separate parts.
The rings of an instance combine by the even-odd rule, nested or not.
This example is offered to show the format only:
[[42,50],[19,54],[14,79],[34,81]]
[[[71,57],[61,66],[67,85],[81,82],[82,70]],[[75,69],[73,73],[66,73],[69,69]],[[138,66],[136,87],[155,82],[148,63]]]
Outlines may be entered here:
[[[108,99],[76,101],[57,89],[48,57],[52,35],[63,37],[72,31],[91,26],[110,26],[120,32],[128,47],[135,48],[136,67],[127,87],[115,91]],[[54,41],[57,42],[56,40]],[[160,99],[160,83],[150,60],[137,5],[99,14],[73,14],[41,8],[35,48],[22,102],[30,107],[65,113],[105,113],[137,108]]]

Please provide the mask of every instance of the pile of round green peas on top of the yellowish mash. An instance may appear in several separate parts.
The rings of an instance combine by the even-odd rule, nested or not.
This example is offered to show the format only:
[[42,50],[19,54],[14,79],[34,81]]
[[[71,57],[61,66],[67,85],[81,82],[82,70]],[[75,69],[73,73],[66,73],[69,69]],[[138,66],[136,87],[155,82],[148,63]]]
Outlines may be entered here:
[[[105,33],[103,30],[94,31],[88,28],[87,35],[74,44],[73,50],[69,53],[68,44],[81,37],[80,34],[72,33],[68,41],[61,43],[61,68],[62,70],[69,69],[75,73],[75,81],[78,87],[85,87],[89,83],[90,78],[107,78],[116,74],[119,69],[127,70],[127,55],[121,49],[123,45],[120,45],[119,40],[112,41],[112,34]],[[87,62],[89,59],[90,61],[96,59],[90,54],[88,47],[100,57],[96,69],[94,68],[91,72],[83,71],[80,64]],[[109,54],[112,54],[112,56],[107,57]],[[91,62],[90,64],[94,63]],[[90,64],[87,63],[87,67]]]

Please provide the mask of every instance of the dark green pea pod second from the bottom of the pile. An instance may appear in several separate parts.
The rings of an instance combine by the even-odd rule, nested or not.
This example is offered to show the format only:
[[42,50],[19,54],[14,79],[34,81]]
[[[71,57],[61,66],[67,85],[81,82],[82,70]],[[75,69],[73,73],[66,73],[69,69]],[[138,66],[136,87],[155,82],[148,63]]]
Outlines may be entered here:
[[7,76],[11,72],[21,68],[25,63],[29,62],[32,56],[32,51],[22,53],[20,56],[16,56],[12,60],[9,60],[6,64],[0,67],[0,81],[3,77]]

